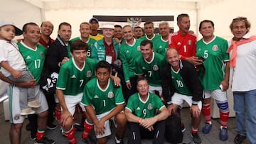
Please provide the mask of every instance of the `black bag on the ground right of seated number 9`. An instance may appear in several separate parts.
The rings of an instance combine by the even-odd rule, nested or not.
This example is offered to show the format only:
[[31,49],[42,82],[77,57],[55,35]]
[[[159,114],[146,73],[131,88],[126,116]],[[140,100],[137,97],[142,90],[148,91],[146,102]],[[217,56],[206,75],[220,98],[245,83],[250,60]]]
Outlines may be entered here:
[[166,119],[166,141],[169,143],[182,143],[183,133],[181,132],[181,118],[171,115]]

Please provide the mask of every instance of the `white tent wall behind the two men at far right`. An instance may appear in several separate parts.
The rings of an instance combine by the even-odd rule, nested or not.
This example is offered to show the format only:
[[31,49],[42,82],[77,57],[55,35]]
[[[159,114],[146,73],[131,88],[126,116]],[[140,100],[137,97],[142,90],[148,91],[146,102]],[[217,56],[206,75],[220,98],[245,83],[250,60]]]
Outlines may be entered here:
[[[217,1],[215,4],[201,3],[198,11],[198,23],[209,19],[215,24],[215,35],[226,40],[233,38],[229,25],[233,18],[245,16],[252,23],[250,33],[256,35],[255,0],[225,0]],[[197,30],[198,31],[198,30]],[[198,35],[198,38],[201,35]]]

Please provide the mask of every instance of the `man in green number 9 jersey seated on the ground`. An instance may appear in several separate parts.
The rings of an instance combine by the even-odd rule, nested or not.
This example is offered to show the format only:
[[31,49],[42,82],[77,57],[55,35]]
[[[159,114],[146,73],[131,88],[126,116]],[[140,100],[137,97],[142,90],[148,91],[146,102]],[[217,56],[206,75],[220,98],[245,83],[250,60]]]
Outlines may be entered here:
[[154,144],[163,144],[164,120],[169,116],[166,106],[158,96],[149,93],[144,77],[137,79],[137,89],[139,92],[129,97],[124,111],[129,126],[128,144],[140,144],[142,138],[154,138]]

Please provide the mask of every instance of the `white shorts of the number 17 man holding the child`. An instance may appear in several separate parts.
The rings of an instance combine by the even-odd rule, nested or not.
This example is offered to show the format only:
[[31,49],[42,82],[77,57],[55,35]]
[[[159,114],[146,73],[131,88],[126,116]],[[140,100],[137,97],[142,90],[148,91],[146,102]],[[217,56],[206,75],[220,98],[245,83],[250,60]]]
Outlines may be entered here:
[[[8,95],[9,95],[9,108],[10,108],[10,122],[11,123],[23,123],[26,116],[21,116],[21,107],[19,105],[21,87],[16,87],[14,85],[9,85]],[[27,88],[24,88],[27,89]],[[35,99],[38,99],[40,103],[39,108],[33,108],[36,113],[42,113],[48,110],[48,104],[46,101],[46,96],[41,91],[39,85],[35,87]]]

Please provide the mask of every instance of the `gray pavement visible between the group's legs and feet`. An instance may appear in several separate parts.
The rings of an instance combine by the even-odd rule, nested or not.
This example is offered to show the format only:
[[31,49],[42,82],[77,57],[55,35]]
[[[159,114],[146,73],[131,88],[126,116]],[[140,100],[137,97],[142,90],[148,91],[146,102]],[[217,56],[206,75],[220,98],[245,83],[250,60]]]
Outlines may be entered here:
[[[79,119],[79,118],[78,118]],[[191,115],[189,113],[188,108],[183,108],[181,110],[181,119],[185,123],[186,131],[183,133],[183,143],[193,143],[190,136],[191,131]],[[33,140],[30,140],[29,135],[30,132],[26,131],[26,124],[28,123],[28,120],[26,119],[23,124],[22,128],[22,138],[21,143],[23,144],[33,144]],[[55,121],[55,124],[57,124],[57,121]],[[219,140],[219,128],[220,128],[220,120],[219,118],[213,119],[213,128],[207,135],[203,134],[201,132],[201,129],[204,125],[204,118],[202,116],[201,126],[199,128],[199,135],[201,137],[202,143],[206,144],[215,144],[215,143],[223,143],[223,144],[230,144],[233,143],[233,139],[235,138],[236,132],[236,126],[235,126],[235,118],[229,118],[228,120],[228,140],[225,142]],[[3,104],[0,103],[0,143],[3,144],[9,144],[9,128],[10,123],[9,121],[4,120],[4,109]],[[82,144],[82,141],[80,140],[82,132],[76,131],[75,132],[76,138],[78,139],[78,144]],[[60,127],[56,128],[55,130],[46,130],[46,137],[55,140],[58,144],[66,144],[68,143],[68,140],[60,134]],[[108,140],[107,144],[113,144],[114,143],[114,134],[110,136],[110,139]],[[127,143],[127,136],[124,139],[124,143]],[[151,140],[142,140],[142,144],[148,144],[151,143]],[[165,143],[167,144],[167,142]],[[244,144],[249,144],[248,140],[245,140]]]

